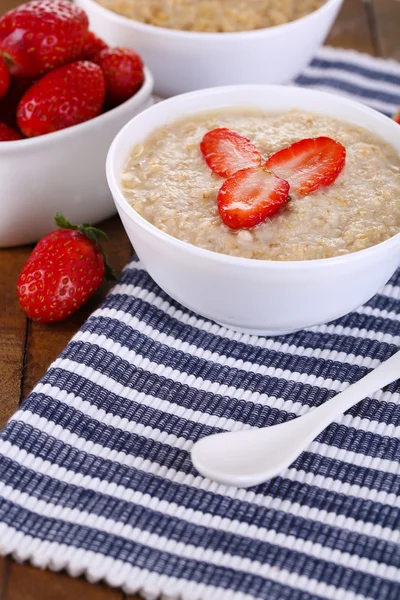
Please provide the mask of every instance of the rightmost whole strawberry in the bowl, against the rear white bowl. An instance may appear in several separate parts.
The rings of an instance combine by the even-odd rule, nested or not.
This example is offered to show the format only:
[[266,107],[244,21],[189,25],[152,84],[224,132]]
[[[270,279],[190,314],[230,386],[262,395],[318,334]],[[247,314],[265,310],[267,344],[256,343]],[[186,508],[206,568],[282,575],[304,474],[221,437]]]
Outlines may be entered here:
[[113,106],[131,98],[144,80],[143,61],[129,48],[102,50],[96,62],[106,80],[107,102]]

